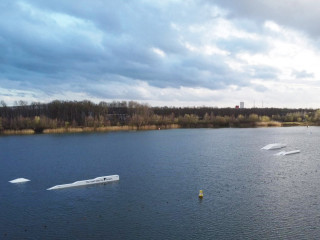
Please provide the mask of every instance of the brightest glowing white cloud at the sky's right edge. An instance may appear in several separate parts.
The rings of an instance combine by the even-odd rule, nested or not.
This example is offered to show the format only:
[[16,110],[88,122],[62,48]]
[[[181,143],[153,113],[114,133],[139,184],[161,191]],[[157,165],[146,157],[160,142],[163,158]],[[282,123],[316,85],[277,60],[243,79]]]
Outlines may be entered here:
[[[270,22],[265,26],[270,28]],[[307,71],[313,74],[313,78],[319,78],[317,63],[320,61],[320,51],[315,44],[301,32],[275,24],[272,26],[277,29],[277,35],[265,37],[269,46],[267,52],[239,53],[237,58],[246,66],[261,65],[278,69],[280,81],[294,80],[294,71]]]

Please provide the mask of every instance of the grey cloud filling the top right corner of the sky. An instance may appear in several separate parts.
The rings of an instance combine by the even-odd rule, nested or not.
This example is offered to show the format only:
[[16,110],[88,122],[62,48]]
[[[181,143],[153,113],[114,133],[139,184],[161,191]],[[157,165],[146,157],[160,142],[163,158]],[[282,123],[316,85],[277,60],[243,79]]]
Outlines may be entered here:
[[[228,17],[235,19],[249,19],[251,22],[263,23],[272,21],[282,26],[297,29],[310,36],[319,36],[320,30],[315,24],[319,22],[320,2],[317,0],[242,0],[207,1],[228,9]],[[275,27],[275,25],[273,25]]]

